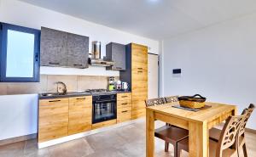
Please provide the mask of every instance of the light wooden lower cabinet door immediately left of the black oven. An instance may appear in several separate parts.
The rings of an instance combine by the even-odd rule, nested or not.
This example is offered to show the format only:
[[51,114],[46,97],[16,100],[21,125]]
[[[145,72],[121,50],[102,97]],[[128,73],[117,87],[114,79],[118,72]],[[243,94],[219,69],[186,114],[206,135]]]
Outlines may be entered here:
[[68,135],[91,130],[92,97],[69,98]]

